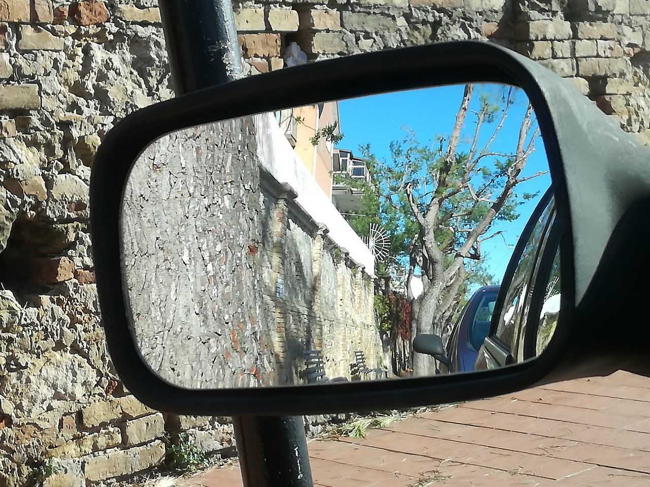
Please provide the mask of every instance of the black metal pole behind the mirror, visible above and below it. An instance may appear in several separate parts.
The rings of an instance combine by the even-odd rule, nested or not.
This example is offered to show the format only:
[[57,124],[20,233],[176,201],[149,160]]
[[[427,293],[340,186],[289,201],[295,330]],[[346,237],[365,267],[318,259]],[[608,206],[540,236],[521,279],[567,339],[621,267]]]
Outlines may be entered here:
[[[174,92],[242,77],[231,0],[159,0]],[[244,487],[312,487],[302,416],[233,416]]]

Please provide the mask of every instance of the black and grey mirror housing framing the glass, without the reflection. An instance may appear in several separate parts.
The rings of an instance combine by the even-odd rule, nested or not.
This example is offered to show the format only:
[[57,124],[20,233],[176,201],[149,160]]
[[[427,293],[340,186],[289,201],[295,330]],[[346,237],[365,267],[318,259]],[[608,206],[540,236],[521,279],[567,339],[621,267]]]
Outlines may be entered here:
[[[179,388],[146,366],[127,318],[120,265],[120,210],[129,171],[148,144],[185,127],[287,106],[461,82],[519,86],[538,118],[558,205],[557,218],[567,229],[561,248],[562,326],[558,326],[543,355],[480,373],[231,390]],[[595,358],[590,347],[575,345],[586,324],[572,320],[577,304],[593,284],[591,279],[617,222],[627,208],[650,197],[647,151],[627,136],[623,140],[623,136],[614,121],[551,71],[497,45],[474,41],[409,47],[282,69],[138,110],[105,137],[90,184],[96,278],[112,362],[125,386],[140,401],[159,410],[190,415],[290,416],[434,405],[508,393],[556,377],[609,373],[613,369],[608,357]],[[612,170],[612,164],[621,169]],[[621,187],[629,191],[617,192]],[[608,204],[595,205],[595,194]],[[601,334],[591,331],[591,336]],[[440,338],[435,338],[439,342],[433,340],[435,343],[424,344],[421,349],[444,355]],[[567,351],[574,349],[577,352],[571,360],[565,360]],[[576,363],[590,365],[579,369],[574,367]]]

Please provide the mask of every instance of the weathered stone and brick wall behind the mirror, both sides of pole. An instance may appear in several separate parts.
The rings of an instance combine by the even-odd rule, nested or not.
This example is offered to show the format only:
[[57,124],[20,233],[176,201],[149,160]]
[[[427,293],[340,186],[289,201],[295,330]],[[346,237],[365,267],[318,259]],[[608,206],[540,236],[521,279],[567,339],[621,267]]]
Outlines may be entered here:
[[[243,54],[259,71],[281,68],[291,42],[318,60],[489,40],[538,59],[625,130],[650,139],[647,0],[235,6]],[[57,475],[68,476],[57,482],[71,486],[103,482],[101,462],[112,465],[101,475],[124,479],[162,456],[161,416],[133,405],[103,344],[87,220],[101,138],[125,114],[172,96],[155,7],[155,0],[0,1],[0,486],[26,484],[31,466],[49,456],[62,459]],[[93,410],[101,414],[89,416]],[[129,429],[141,418],[153,427]],[[169,431],[218,438],[206,448],[231,445],[223,418],[163,419]],[[153,436],[134,440],[149,430]]]

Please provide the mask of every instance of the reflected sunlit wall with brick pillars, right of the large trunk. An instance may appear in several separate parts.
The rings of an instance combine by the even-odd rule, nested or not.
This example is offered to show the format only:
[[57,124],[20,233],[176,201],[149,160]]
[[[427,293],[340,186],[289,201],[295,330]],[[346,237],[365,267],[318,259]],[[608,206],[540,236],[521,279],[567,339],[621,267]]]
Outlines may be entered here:
[[270,222],[263,245],[264,298],[276,320],[279,384],[304,383],[304,350],[322,351],[327,377],[349,379],[355,350],[363,350],[369,364],[381,351],[372,279],[302,212],[291,188],[272,186],[264,198]]

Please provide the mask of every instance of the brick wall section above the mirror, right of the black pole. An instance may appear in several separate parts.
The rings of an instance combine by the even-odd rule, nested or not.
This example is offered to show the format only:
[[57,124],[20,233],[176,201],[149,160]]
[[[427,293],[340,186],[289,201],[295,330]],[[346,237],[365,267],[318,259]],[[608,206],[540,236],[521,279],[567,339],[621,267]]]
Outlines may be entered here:
[[237,3],[244,57],[281,66],[448,40],[488,40],[573,82],[623,129],[650,140],[650,3],[645,0],[352,0]]

